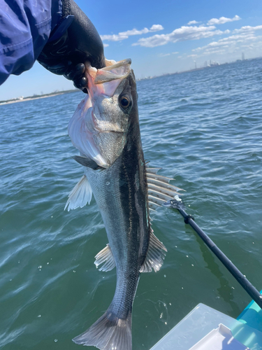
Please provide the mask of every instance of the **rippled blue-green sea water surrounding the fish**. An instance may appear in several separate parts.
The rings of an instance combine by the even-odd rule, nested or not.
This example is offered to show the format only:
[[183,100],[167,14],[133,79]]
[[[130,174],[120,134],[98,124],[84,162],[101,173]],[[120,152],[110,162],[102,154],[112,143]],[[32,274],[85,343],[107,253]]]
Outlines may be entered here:
[[[188,214],[262,289],[262,59],[138,81],[145,158],[184,188]],[[0,106],[0,349],[73,350],[71,339],[108,308],[115,270],[94,198],[64,211],[82,176],[67,125],[82,92]],[[249,303],[180,214],[152,223],[168,248],[142,274],[133,350],[150,349],[196,304],[236,317]],[[94,349],[94,348],[90,348]]]

